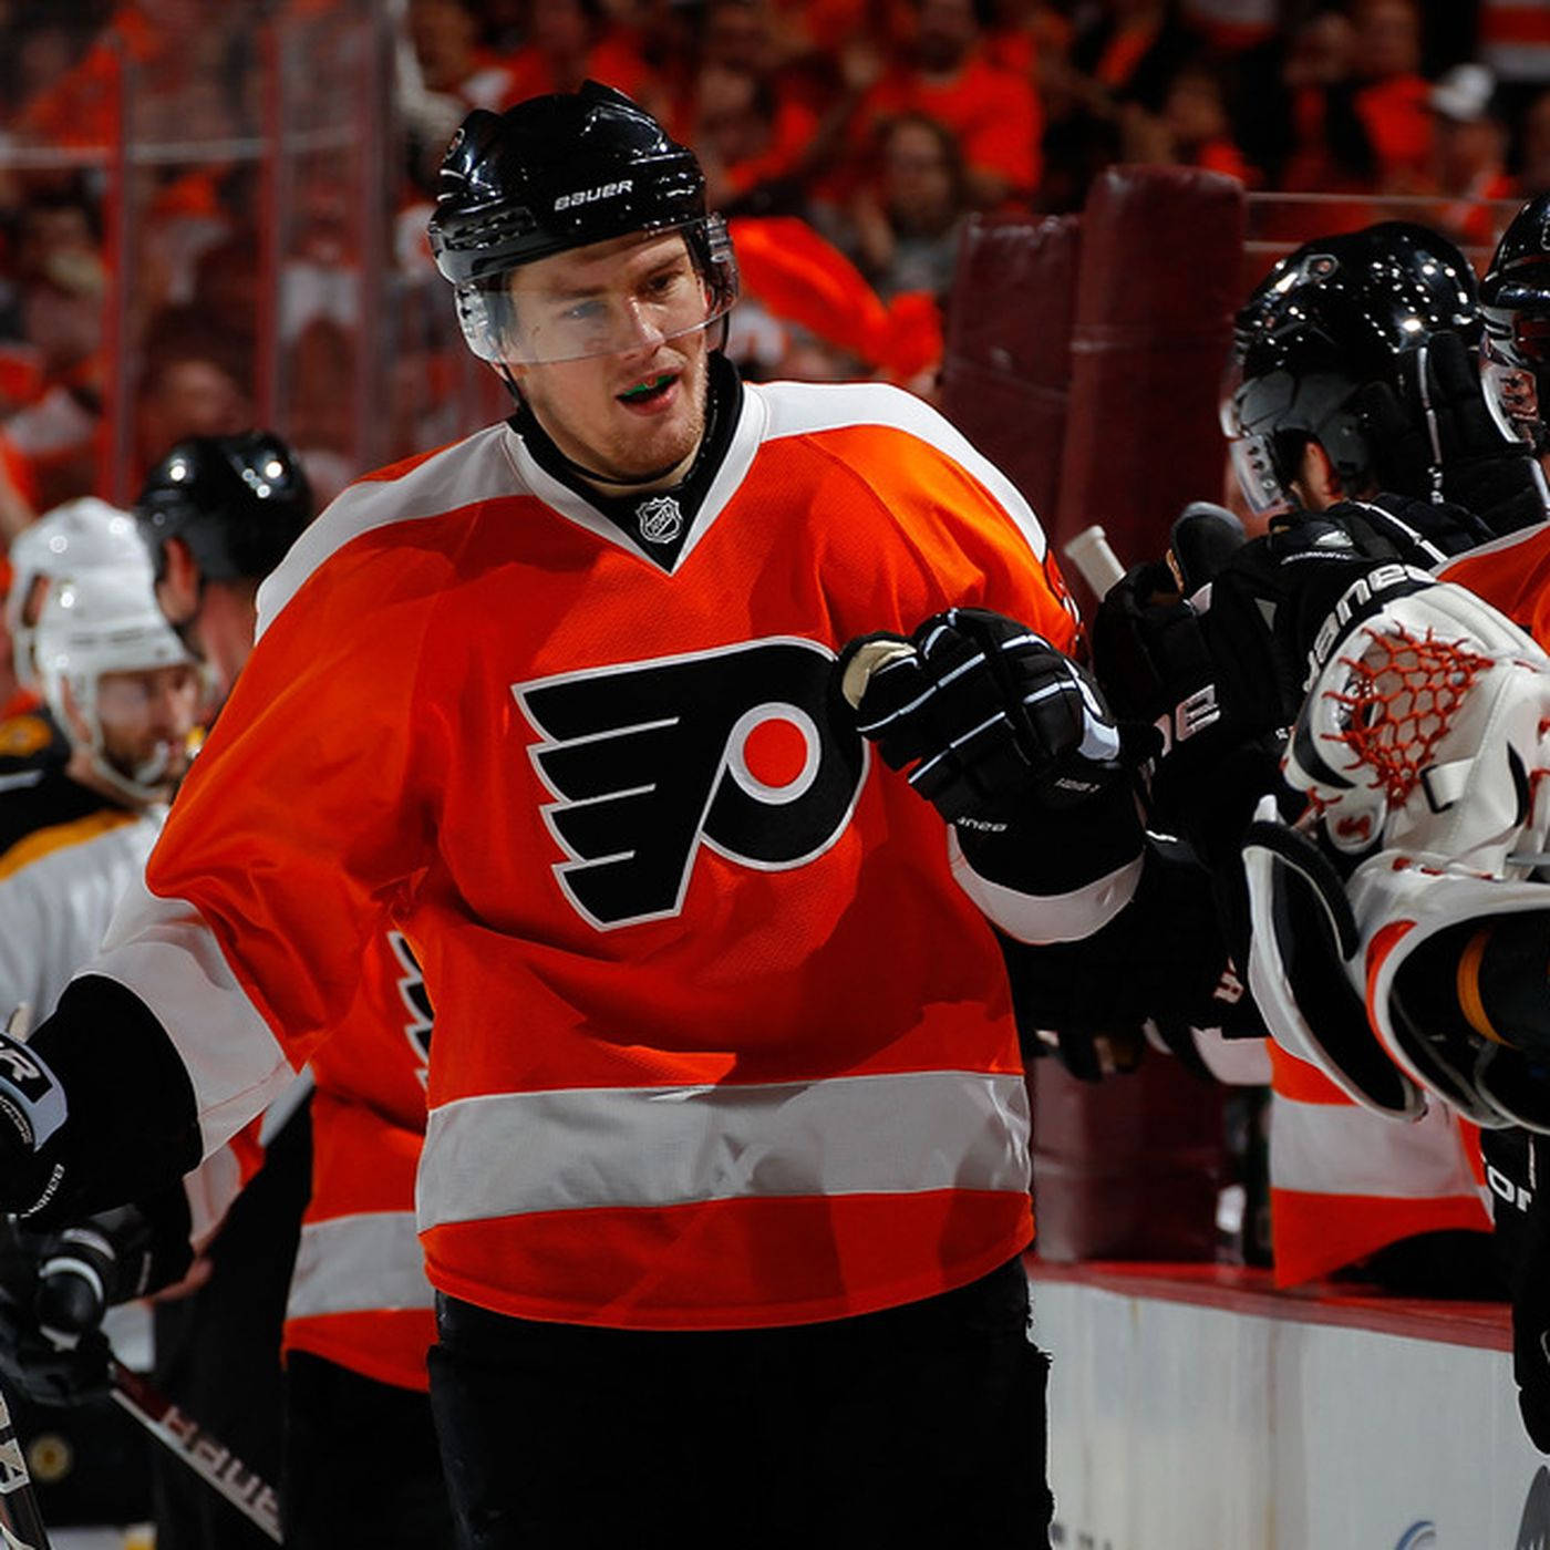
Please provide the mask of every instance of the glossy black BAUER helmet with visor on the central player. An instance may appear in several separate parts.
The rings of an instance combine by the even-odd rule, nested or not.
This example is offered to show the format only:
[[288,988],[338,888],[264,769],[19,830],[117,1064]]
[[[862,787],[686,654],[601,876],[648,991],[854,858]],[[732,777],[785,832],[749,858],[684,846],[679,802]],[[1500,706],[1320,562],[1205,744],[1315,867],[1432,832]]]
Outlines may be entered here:
[[725,225],[705,214],[699,161],[622,91],[587,81],[504,113],[474,108],[442,160],[429,239],[470,349],[499,363],[609,353],[524,353],[505,291],[512,270],[665,231],[684,232],[705,282],[691,322],[705,327],[736,301],[738,281]]

